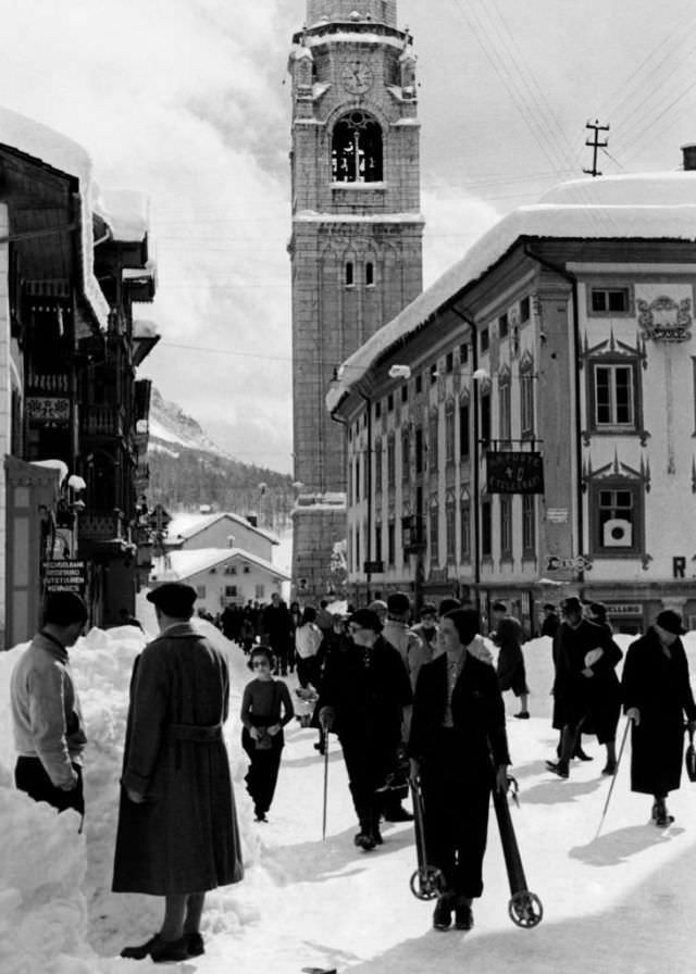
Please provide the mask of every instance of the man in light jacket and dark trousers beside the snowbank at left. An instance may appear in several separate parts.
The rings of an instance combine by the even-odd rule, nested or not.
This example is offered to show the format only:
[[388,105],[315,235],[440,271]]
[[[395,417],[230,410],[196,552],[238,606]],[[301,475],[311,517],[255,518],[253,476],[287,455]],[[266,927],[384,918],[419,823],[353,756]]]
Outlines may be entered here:
[[20,657],[10,684],[17,788],[59,812],[75,809],[80,815],[87,738],[67,650],[86,622],[87,607],[78,595],[50,595],[44,626]]

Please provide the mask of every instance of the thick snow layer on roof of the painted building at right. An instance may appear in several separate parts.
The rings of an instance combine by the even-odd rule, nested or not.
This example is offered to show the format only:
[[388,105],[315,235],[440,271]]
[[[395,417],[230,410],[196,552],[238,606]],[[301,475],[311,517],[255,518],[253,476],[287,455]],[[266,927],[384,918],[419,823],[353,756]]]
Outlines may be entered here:
[[557,186],[538,203],[513,210],[344,362],[326,396],[328,410],[337,408],[376,359],[474,284],[520,238],[695,240],[696,173],[575,179]]

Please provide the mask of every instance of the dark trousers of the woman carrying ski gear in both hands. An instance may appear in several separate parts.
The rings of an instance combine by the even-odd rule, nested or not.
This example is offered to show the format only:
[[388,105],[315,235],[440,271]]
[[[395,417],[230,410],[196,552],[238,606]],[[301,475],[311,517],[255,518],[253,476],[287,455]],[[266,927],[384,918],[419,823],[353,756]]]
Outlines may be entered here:
[[492,770],[465,767],[452,730],[421,762],[428,865],[443,872],[449,891],[471,899],[483,892]]

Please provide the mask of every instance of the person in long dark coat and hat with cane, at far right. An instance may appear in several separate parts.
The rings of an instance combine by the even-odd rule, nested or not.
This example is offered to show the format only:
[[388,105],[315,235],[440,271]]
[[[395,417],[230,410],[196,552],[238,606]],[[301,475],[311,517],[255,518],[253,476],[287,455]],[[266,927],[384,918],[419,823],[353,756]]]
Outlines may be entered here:
[[682,620],[666,609],[626,653],[621,682],[631,730],[631,790],[654,796],[652,820],[669,825],[666,799],[682,777],[684,715],[696,726],[696,703],[680,636]]

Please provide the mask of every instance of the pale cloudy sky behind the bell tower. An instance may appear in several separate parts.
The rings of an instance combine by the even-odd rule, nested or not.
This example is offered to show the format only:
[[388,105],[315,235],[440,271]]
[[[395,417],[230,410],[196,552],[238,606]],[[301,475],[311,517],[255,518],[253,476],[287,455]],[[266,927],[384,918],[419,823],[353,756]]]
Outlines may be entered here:
[[[419,55],[426,285],[591,165],[587,121],[611,125],[606,174],[675,170],[696,141],[693,0],[398,5]],[[138,316],[163,337],[142,374],[227,451],[282,471],[284,83],[304,13],[304,0],[0,0],[0,103],[83,145],[101,185],[150,197],[159,291]]]

